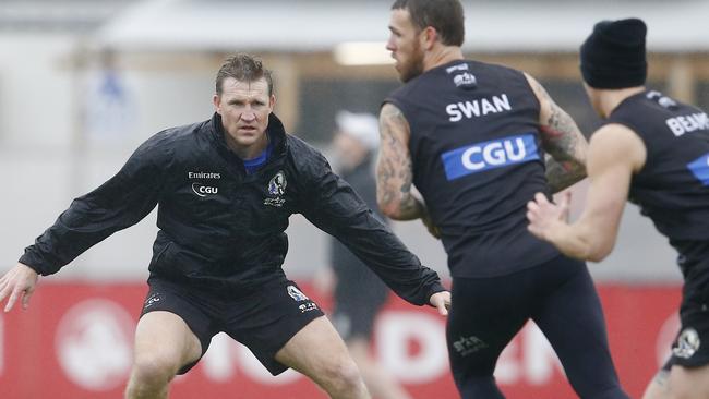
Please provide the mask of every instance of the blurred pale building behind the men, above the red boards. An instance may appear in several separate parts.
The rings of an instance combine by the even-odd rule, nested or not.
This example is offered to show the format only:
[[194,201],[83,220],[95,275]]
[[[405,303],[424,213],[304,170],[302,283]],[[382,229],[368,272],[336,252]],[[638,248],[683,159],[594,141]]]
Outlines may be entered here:
[[[469,17],[464,49],[472,58],[529,71],[590,132],[598,120],[582,95],[577,47],[598,20],[641,16],[652,26],[652,84],[709,106],[709,27],[702,21],[708,2],[601,3],[465,2]],[[0,166],[16,172],[5,181],[14,194],[1,200],[0,222],[16,230],[0,255],[16,257],[68,205],[63,198],[105,180],[149,135],[208,118],[212,71],[232,51],[257,53],[274,65],[276,111],[289,131],[309,142],[328,142],[337,109],[376,112],[386,93],[399,84],[384,49],[388,5],[346,0],[1,3]],[[626,219],[618,251],[593,267],[594,276],[678,280],[678,273],[668,267],[673,259],[666,243],[633,207]],[[149,258],[149,247],[142,243],[155,232],[152,221],[80,257],[62,278],[142,278]],[[291,240],[315,234],[301,233],[308,228],[298,218],[292,225]],[[411,246],[424,249],[420,252],[428,264],[446,274],[442,251],[419,226],[396,223],[395,229]],[[293,251],[286,262],[293,276],[309,275],[311,265],[325,257],[324,239],[308,242],[312,249]],[[639,259],[628,256],[638,251]],[[95,264],[101,267],[89,266]]]

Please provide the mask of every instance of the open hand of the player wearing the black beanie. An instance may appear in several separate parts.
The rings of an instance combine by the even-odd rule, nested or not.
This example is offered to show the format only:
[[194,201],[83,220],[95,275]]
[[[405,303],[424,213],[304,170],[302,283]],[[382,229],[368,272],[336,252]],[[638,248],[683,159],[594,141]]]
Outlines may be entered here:
[[563,228],[568,220],[568,205],[570,203],[570,191],[565,192],[555,205],[542,193],[537,193],[534,200],[527,203],[527,229],[537,238],[554,242],[554,233]]

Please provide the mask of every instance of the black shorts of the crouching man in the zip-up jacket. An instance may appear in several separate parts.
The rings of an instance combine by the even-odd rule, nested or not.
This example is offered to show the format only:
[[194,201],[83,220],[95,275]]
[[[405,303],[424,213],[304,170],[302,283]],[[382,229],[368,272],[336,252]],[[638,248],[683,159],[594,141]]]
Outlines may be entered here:
[[[287,366],[274,356],[307,324],[323,316],[315,302],[305,297],[290,280],[265,283],[257,290],[237,298],[226,298],[152,277],[141,316],[166,311],[180,316],[202,344],[202,355],[212,337],[226,332],[244,344],[268,372],[278,375]],[[201,356],[200,356],[201,358]],[[196,363],[184,365],[184,374]]]

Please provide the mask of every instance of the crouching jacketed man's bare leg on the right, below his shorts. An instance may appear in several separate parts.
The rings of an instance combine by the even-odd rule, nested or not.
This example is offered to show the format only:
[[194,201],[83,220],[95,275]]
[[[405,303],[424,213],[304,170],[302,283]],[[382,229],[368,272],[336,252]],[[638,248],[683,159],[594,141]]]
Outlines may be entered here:
[[298,331],[276,360],[308,376],[333,399],[370,399],[345,342],[324,316]]

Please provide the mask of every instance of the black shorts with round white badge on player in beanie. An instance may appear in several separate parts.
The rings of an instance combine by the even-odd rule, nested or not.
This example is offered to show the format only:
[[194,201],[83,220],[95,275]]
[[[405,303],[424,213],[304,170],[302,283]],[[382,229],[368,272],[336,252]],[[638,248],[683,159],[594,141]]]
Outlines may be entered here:
[[672,344],[672,365],[699,367],[709,364],[709,261],[692,267],[682,290],[682,327]]

